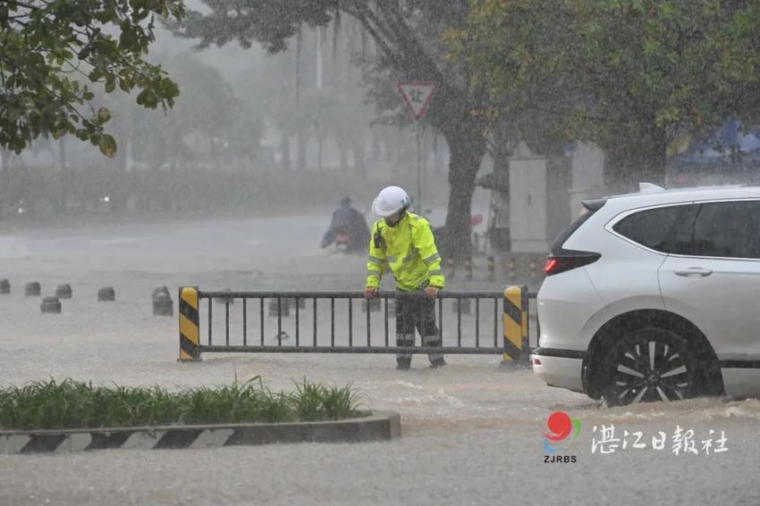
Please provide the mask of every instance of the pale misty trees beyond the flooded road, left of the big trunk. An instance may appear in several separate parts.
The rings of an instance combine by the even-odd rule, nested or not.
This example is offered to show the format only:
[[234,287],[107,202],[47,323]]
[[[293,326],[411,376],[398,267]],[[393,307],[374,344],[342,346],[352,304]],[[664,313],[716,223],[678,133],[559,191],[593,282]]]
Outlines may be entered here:
[[[416,189],[408,113],[401,96],[390,113],[368,103],[361,59],[376,48],[356,23],[304,28],[274,55],[237,43],[198,50],[196,42],[156,29],[148,60],[180,87],[171,110],[146,110],[119,90],[97,96],[112,112],[113,159],[73,137],[38,137],[21,154],[0,150],[0,223],[317,208],[326,228],[343,196],[371,219],[379,189]],[[424,203],[444,206],[447,146],[425,126],[421,145]]]

